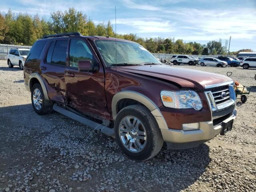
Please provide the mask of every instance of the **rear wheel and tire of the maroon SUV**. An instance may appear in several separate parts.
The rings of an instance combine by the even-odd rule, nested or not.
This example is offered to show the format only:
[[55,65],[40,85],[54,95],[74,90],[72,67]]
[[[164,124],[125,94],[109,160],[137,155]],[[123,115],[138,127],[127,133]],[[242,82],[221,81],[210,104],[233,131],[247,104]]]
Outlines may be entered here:
[[[34,95],[34,96],[33,96]],[[44,92],[40,84],[36,83],[32,86],[31,102],[35,112],[39,115],[52,112],[54,102],[44,98]]]

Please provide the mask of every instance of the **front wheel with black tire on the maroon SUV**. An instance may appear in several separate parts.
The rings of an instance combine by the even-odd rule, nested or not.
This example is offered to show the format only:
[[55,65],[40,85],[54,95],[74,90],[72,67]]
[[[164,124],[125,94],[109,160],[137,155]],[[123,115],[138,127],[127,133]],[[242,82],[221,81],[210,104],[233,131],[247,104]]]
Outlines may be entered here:
[[158,124],[145,106],[131,105],[123,108],[116,117],[114,129],[119,148],[133,160],[148,160],[158,154],[163,146]]

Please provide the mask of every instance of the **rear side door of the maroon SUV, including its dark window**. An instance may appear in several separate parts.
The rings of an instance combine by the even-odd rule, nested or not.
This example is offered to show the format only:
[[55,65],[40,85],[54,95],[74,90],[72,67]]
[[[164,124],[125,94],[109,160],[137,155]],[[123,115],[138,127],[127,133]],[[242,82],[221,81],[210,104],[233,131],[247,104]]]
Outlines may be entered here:
[[66,67],[68,38],[59,38],[49,42],[48,51],[41,62],[41,76],[46,84],[51,100],[66,102],[66,83],[64,71]]

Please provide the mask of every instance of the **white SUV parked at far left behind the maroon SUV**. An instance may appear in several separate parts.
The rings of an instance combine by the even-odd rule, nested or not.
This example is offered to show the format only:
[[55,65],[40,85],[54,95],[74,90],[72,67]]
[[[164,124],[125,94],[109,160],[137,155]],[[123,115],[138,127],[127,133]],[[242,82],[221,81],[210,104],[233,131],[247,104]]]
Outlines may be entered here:
[[27,58],[30,49],[12,48],[7,55],[7,64],[10,68],[14,65],[20,67],[21,70],[24,68],[24,63]]

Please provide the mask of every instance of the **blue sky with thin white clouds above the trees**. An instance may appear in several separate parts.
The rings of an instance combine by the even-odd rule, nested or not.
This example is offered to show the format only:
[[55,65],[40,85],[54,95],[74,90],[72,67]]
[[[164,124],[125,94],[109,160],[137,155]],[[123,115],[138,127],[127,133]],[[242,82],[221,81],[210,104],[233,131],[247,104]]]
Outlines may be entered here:
[[2,0],[0,12],[11,8],[49,19],[50,13],[74,7],[94,22],[114,25],[117,33],[141,37],[178,38],[207,43],[232,36],[230,51],[256,51],[256,0]]

